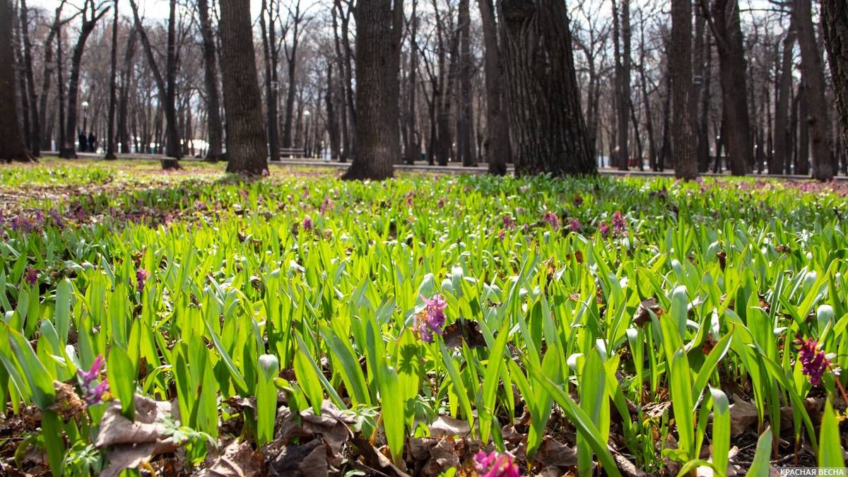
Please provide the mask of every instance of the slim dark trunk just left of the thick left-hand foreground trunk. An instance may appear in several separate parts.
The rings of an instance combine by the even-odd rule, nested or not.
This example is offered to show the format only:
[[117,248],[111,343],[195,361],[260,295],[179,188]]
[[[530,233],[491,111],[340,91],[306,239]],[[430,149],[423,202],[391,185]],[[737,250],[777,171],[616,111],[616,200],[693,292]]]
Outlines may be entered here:
[[204,39],[204,89],[206,90],[206,127],[209,132],[209,149],[206,160],[215,162],[221,157],[224,131],[220,121],[220,97],[218,95],[218,65],[215,48],[215,32],[209,21],[208,0],[198,0],[200,35]]

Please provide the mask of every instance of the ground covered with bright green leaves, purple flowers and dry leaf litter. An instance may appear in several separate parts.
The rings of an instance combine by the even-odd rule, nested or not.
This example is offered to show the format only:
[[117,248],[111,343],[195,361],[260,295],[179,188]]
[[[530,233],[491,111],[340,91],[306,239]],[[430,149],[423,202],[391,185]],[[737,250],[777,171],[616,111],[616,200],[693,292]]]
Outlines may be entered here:
[[0,168],[0,473],[844,466],[845,184],[334,174]]

